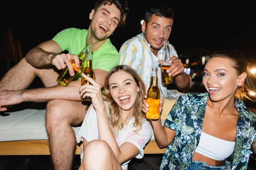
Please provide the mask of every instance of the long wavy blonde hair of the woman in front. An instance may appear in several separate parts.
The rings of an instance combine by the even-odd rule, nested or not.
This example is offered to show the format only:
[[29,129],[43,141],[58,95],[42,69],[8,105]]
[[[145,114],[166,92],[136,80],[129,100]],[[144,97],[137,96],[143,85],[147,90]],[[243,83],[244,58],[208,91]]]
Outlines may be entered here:
[[111,115],[111,125],[112,125],[112,130],[114,136],[117,135],[117,132],[123,128],[123,123],[122,123],[122,110],[119,107],[119,105],[114,101],[110,94],[110,88],[109,88],[109,78],[111,77],[112,74],[118,72],[118,71],[123,71],[127,74],[130,74],[131,77],[134,78],[137,86],[140,88],[140,91],[137,92],[137,98],[134,103],[134,126],[136,127],[136,132],[141,130],[142,123],[146,119],[145,113],[143,113],[142,108],[143,108],[143,99],[144,95],[146,94],[145,92],[145,85],[143,83],[143,80],[139,76],[136,70],[131,68],[128,65],[117,65],[113,67],[107,74],[105,78],[105,84],[104,84],[104,94],[103,94],[103,99],[108,102],[108,108],[109,112]]

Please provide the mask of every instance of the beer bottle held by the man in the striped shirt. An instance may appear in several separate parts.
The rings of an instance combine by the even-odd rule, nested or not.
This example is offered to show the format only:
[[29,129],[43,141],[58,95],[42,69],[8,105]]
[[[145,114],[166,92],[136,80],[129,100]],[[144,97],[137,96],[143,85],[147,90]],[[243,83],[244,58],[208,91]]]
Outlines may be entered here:
[[166,70],[172,65],[168,63],[170,59],[171,57],[170,57],[170,50],[169,50],[169,41],[166,40],[163,43],[163,59],[161,63],[162,82],[164,84],[172,83],[172,76],[169,76],[168,73],[166,72]]

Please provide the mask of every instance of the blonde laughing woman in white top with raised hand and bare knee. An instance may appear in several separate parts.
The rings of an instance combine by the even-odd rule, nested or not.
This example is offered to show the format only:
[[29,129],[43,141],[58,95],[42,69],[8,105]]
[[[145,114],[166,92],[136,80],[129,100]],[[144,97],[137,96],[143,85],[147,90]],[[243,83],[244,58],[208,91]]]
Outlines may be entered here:
[[90,96],[92,104],[77,136],[83,141],[79,170],[127,170],[132,158],[143,158],[143,147],[153,130],[142,111],[145,85],[137,72],[118,65],[100,86],[82,74],[92,85],[83,85],[80,95]]

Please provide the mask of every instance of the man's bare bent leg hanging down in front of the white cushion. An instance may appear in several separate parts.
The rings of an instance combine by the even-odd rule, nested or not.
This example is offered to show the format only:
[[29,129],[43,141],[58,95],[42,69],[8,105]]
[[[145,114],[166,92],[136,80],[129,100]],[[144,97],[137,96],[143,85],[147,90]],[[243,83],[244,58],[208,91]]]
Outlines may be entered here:
[[71,170],[76,147],[72,125],[84,120],[86,105],[70,100],[51,100],[47,104],[46,128],[55,170]]

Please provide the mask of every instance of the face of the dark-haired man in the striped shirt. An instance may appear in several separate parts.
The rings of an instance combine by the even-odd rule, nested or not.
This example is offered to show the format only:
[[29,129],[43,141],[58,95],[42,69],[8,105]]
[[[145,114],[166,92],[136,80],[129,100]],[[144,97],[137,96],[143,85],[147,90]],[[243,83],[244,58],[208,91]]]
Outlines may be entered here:
[[151,20],[146,25],[142,24],[142,31],[151,51],[159,51],[163,47],[163,42],[169,39],[172,31],[173,19],[152,15]]

